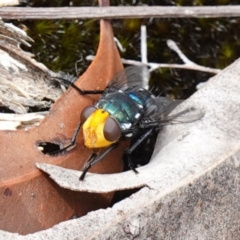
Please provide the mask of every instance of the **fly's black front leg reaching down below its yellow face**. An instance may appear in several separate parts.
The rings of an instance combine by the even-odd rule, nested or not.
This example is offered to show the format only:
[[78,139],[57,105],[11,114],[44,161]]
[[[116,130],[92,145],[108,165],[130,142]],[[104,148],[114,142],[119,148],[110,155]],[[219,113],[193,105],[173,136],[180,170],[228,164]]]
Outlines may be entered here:
[[82,169],[82,174],[79,178],[79,180],[83,180],[87,171],[94,166],[97,162],[99,162],[101,159],[103,159],[108,153],[110,153],[113,149],[115,149],[118,146],[118,143],[114,143],[113,145],[111,145],[109,148],[107,148],[101,155],[99,155],[97,157],[96,153],[93,153],[91,155],[91,157],[88,159],[88,161],[86,162],[86,164],[84,165],[83,169]]

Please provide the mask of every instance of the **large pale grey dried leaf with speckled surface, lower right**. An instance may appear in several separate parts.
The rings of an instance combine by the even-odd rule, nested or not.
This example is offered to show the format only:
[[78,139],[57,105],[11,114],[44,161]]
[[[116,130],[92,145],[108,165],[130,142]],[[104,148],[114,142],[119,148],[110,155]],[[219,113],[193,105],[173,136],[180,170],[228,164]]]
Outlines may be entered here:
[[166,127],[140,174],[88,174],[79,183],[95,192],[104,185],[106,191],[146,186],[130,198],[35,234],[4,233],[4,239],[239,239],[239,91],[237,60],[176,109],[195,106],[205,116]]

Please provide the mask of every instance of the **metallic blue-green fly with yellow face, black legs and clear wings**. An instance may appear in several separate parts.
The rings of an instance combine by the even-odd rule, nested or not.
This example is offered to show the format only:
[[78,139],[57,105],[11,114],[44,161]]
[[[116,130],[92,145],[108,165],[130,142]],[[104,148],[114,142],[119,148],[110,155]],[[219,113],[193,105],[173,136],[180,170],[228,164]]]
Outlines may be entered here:
[[[84,145],[86,147],[91,149],[106,148],[102,154],[97,155],[94,152],[89,157],[79,178],[79,180],[83,180],[87,171],[115,149],[121,139],[133,139],[141,133],[140,137],[132,142],[125,152],[130,169],[138,173],[131,160],[132,152],[154,130],[159,130],[162,125],[173,120],[178,121],[177,118],[179,116],[192,110],[188,109],[169,116],[171,110],[180,101],[154,96],[149,90],[144,88],[146,76],[149,76],[147,67],[132,66],[116,74],[105,90],[82,90],[72,83],[72,87],[81,95],[102,95],[94,105],[83,109],[80,122],[70,144],[49,154],[60,153],[74,146],[82,128]],[[192,122],[201,117],[202,114],[195,115],[192,119],[184,122]]]

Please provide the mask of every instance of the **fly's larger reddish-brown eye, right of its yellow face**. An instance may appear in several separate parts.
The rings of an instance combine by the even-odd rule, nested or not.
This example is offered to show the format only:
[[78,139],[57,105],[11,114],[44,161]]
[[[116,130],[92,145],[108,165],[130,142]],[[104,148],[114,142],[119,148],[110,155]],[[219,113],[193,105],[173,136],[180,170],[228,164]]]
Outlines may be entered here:
[[109,142],[117,141],[121,137],[121,129],[117,121],[109,117],[105,123],[103,134]]

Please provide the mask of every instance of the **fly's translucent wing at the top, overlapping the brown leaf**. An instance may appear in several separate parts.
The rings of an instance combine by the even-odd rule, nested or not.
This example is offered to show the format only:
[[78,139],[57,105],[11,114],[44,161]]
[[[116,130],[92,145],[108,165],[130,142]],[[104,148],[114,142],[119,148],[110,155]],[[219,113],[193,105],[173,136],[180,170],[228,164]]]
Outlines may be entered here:
[[128,88],[145,88],[149,79],[146,66],[131,66],[118,72],[107,85],[104,93],[117,90],[125,91]]

